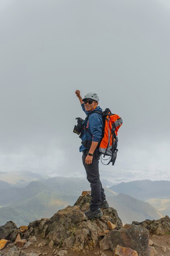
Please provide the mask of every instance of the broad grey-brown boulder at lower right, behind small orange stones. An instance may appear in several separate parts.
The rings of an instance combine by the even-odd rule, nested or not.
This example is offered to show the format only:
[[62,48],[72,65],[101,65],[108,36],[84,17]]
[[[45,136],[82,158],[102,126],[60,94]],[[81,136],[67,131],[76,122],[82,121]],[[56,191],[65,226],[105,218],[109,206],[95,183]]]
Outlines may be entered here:
[[141,226],[131,224],[128,229],[121,227],[111,230],[100,241],[100,249],[115,251],[117,245],[129,247],[138,253],[138,256],[149,256],[149,232]]

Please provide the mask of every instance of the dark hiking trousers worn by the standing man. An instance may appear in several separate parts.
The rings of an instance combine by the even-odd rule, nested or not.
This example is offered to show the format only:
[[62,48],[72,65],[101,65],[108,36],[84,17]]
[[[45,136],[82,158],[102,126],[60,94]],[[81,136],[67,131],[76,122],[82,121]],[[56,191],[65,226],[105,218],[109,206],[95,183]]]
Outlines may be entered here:
[[102,188],[102,183],[99,178],[99,150],[95,150],[93,154],[92,164],[85,164],[86,156],[89,150],[84,150],[82,155],[83,165],[86,170],[87,180],[91,184],[91,211],[95,211],[100,208],[101,200],[105,200],[106,196],[104,194],[104,189]]

